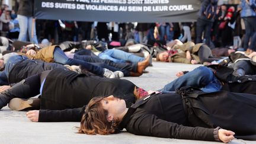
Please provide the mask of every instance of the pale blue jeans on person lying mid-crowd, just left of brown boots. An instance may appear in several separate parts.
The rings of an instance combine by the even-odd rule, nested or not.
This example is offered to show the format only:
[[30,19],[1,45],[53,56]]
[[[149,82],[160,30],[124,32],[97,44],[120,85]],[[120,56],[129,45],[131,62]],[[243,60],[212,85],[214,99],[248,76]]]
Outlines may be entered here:
[[109,59],[113,62],[132,62],[132,63],[138,63],[144,60],[143,57],[139,57],[136,55],[133,55],[132,53],[124,52],[123,50],[117,50],[117,49],[110,49],[110,50],[104,50],[104,52],[101,52],[98,57],[101,59]]

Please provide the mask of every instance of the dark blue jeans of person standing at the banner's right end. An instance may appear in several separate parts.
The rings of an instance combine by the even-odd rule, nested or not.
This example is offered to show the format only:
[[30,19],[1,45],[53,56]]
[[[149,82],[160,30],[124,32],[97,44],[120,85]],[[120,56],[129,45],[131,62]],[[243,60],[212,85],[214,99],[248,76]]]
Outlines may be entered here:
[[210,30],[212,28],[213,22],[212,21],[207,21],[203,20],[201,18],[197,19],[197,39],[196,43],[202,43],[201,37],[203,36],[204,32],[204,39],[206,39],[206,44],[207,46],[210,46]]

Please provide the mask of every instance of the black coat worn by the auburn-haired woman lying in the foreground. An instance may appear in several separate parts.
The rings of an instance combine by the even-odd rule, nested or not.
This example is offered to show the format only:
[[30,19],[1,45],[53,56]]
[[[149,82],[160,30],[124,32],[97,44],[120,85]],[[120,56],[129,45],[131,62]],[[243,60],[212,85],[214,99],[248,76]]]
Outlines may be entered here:
[[233,130],[236,137],[256,140],[255,95],[191,89],[178,93],[136,101],[124,116],[121,128],[136,135],[215,140],[213,128],[220,126]]

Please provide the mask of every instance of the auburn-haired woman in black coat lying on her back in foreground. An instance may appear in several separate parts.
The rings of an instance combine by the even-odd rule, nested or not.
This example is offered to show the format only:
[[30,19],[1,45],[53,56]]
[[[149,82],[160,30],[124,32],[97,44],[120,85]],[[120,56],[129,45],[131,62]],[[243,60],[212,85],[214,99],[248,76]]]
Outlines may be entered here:
[[255,95],[183,87],[173,94],[150,95],[128,108],[113,95],[92,98],[79,132],[109,135],[125,128],[135,135],[176,139],[256,140],[255,113]]

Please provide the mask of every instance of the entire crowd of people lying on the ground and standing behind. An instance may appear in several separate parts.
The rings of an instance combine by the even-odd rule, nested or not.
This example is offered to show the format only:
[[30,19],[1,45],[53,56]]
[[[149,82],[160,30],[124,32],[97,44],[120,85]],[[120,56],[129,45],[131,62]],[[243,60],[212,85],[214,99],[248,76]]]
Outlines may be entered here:
[[[30,110],[34,122],[80,121],[78,133],[87,135],[126,129],[176,139],[256,140],[256,1],[241,0],[238,7],[217,2],[204,0],[196,23],[94,27],[35,21],[33,1],[24,0],[17,12],[18,39],[3,31],[4,19],[11,23],[15,13],[5,5],[0,109],[8,104]],[[52,29],[41,39],[36,25]],[[178,72],[164,88],[150,91],[120,79],[148,73],[152,61],[204,66]]]

